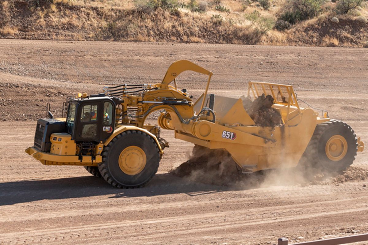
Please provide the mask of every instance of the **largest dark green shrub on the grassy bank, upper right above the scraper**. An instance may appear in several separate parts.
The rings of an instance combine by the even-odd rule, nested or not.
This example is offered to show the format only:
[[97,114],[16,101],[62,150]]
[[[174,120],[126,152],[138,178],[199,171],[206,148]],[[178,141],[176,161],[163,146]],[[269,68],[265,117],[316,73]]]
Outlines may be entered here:
[[284,12],[279,19],[294,25],[299,21],[304,21],[316,17],[322,12],[322,5],[326,0],[288,0]]

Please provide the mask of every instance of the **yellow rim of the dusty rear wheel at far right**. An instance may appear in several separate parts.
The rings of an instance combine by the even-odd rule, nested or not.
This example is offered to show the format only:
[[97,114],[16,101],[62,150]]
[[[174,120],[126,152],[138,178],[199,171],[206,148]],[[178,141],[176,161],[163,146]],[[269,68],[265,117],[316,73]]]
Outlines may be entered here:
[[326,143],[326,155],[332,161],[340,161],[347,152],[347,142],[341,135],[332,136]]

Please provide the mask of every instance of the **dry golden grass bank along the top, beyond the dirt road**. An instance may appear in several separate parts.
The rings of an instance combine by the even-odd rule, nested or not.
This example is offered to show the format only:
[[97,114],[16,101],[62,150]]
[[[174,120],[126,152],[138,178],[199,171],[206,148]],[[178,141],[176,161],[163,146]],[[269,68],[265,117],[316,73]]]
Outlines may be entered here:
[[[367,18],[367,4],[353,13],[358,17],[337,16],[343,20],[338,26],[330,22],[335,15],[326,12],[290,30],[279,32],[270,29],[270,23],[276,20],[275,16],[282,9],[284,1],[271,1],[268,10],[264,10],[257,2],[245,4],[245,0],[221,0],[219,3],[218,0],[208,0],[205,12],[192,12],[187,7],[179,7],[175,11],[159,8],[142,12],[137,10],[134,0],[53,0],[42,6],[29,5],[25,11],[31,14],[28,12],[22,16],[18,12],[11,18],[15,9],[20,7],[15,6],[15,1],[9,0],[0,4],[0,36],[355,47],[363,47],[368,40],[368,24],[362,21]],[[230,11],[216,10],[218,4]],[[328,3],[329,8],[334,4]],[[254,12],[258,15],[256,20],[249,17]],[[20,26],[22,31],[14,26]],[[32,31],[22,26],[32,26]]]

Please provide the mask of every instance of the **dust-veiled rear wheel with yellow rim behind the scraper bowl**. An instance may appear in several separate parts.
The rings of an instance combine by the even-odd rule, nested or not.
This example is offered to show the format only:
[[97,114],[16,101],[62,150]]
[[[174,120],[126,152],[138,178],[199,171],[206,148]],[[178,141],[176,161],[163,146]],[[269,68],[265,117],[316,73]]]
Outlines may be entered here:
[[303,157],[309,166],[340,172],[353,164],[357,151],[354,130],[342,121],[331,119],[316,126]]

